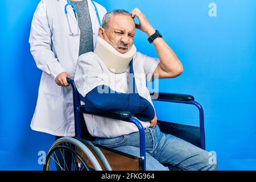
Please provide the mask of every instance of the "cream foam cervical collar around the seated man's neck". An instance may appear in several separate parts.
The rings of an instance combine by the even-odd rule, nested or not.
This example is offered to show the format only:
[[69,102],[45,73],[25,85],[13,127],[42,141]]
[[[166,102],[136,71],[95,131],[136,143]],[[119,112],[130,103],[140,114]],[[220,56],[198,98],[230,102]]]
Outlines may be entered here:
[[113,73],[123,73],[129,67],[133,56],[137,52],[133,45],[129,52],[120,53],[104,39],[97,37],[97,44],[94,53],[104,62],[106,67]]

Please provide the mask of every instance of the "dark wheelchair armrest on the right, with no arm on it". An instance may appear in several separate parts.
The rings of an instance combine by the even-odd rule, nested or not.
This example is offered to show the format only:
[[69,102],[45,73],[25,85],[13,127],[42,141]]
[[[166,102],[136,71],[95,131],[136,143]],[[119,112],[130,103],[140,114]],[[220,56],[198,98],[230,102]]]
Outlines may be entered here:
[[[150,93],[151,96],[157,93]],[[166,99],[166,100],[175,100],[175,101],[194,101],[195,98],[191,95],[187,94],[177,94],[177,93],[158,93],[158,99]],[[158,100],[156,99],[156,100]]]

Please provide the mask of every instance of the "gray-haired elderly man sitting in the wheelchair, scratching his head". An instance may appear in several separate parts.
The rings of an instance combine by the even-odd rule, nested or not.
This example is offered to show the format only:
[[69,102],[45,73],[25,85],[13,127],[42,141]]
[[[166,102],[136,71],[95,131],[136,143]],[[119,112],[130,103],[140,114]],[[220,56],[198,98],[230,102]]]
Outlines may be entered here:
[[[134,23],[135,17],[139,19],[139,24]],[[81,94],[81,99],[85,102],[85,107],[94,100],[104,103],[106,101],[105,96],[109,96],[107,100],[109,101],[108,107],[110,109],[129,108],[129,104],[127,105],[130,84],[129,70],[131,72],[134,69],[134,73],[143,73],[144,78],[138,79],[135,76],[135,82],[138,86],[139,99],[143,101],[143,105],[146,105],[146,107],[134,113],[133,117],[137,117],[144,127],[147,152],[146,169],[168,170],[167,167],[161,164],[168,163],[183,170],[215,170],[216,165],[209,164],[210,155],[207,151],[173,135],[160,132],[158,125],[156,125],[157,118],[150,94],[147,89],[146,92],[142,92],[143,89],[141,89],[146,88],[146,77],[148,81],[154,80],[155,77],[177,77],[183,72],[183,66],[172,49],[164,42],[162,36],[151,26],[141,11],[134,9],[129,14],[125,10],[114,10],[107,13],[104,16],[102,27],[99,28],[99,36],[110,44],[115,51],[125,55],[133,47],[135,28],[145,32],[150,37],[148,40],[154,44],[159,59],[136,52],[130,67],[125,72],[117,74],[109,71],[104,64],[104,57],[100,59],[93,52],[81,55],[77,63],[75,82]],[[115,55],[118,55],[118,53],[115,53]],[[122,57],[122,55],[119,56]],[[102,74],[106,76],[102,76]],[[99,93],[99,86],[100,88],[104,86],[111,93],[118,94]],[[122,102],[122,105],[119,105],[121,108],[115,108],[117,101]],[[95,108],[90,106],[92,105],[89,105],[87,109],[102,110],[98,106]],[[133,110],[132,108],[129,109]],[[143,113],[143,117],[141,117],[139,113],[145,110],[147,112]],[[139,133],[133,123],[89,114],[84,114],[84,118],[89,133],[96,137],[95,143],[112,147],[115,150],[131,155],[139,155]]]

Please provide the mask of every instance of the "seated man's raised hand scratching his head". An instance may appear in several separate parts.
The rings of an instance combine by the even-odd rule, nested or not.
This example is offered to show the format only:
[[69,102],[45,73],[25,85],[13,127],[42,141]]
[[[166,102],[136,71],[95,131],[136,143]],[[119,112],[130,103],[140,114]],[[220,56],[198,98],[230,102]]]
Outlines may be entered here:
[[135,8],[131,11],[131,18],[137,17],[139,19],[139,24],[136,24],[136,28],[145,32],[148,36],[155,34],[155,29],[148,22],[146,16],[141,13],[141,10]]

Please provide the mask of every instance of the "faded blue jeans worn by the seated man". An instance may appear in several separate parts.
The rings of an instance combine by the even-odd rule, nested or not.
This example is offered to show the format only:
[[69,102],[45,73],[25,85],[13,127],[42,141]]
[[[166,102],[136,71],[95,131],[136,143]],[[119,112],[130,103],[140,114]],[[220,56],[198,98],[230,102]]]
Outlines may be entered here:
[[[164,134],[156,125],[145,129],[146,170],[167,171],[167,163],[185,171],[216,170],[217,164],[209,163],[209,152],[170,134]],[[139,156],[139,133],[116,138],[97,138],[94,143]]]

